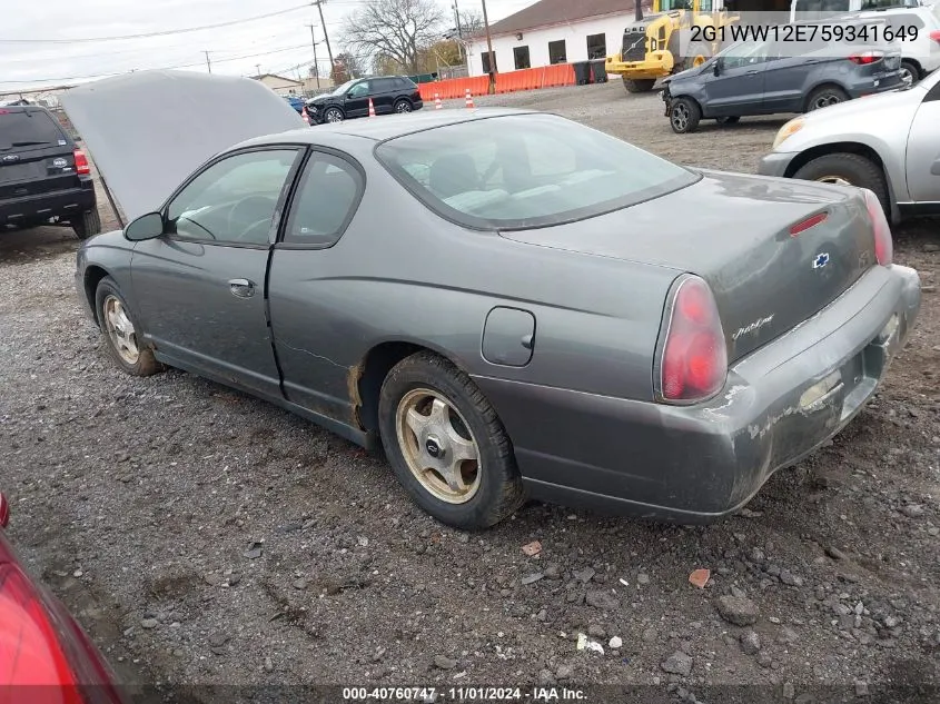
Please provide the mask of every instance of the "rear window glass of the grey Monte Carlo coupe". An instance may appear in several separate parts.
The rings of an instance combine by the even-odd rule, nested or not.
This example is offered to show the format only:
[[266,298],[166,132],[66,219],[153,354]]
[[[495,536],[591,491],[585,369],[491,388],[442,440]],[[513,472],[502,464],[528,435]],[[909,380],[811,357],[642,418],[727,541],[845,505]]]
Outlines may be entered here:
[[478,229],[570,222],[657,198],[700,178],[551,115],[428,129],[383,142],[376,157],[431,209]]

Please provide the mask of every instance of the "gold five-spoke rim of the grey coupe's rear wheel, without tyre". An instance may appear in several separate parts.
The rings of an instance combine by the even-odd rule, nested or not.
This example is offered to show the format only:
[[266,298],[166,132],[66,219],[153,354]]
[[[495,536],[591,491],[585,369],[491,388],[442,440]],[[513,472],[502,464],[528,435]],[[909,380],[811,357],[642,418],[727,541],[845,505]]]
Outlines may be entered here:
[[479,449],[464,417],[438,391],[416,388],[395,412],[408,469],[435,498],[466,504],[479,490]]

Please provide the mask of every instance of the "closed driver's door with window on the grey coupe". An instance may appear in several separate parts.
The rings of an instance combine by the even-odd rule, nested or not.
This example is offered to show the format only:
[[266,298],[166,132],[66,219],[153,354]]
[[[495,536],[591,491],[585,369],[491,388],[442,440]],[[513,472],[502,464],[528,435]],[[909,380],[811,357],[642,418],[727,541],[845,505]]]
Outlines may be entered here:
[[172,364],[279,395],[265,277],[299,155],[298,147],[274,147],[212,161],[166,206],[166,234],[136,246],[131,285],[141,326]]

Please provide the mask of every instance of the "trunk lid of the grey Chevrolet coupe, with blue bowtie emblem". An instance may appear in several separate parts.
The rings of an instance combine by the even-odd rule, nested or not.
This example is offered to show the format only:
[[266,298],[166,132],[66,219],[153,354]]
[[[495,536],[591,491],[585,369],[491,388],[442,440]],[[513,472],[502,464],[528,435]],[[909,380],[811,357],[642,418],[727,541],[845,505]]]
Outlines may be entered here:
[[[824,308],[877,264],[861,191],[704,171],[662,198],[508,239],[687,271],[709,282],[729,361]],[[791,235],[791,227],[824,219]]]

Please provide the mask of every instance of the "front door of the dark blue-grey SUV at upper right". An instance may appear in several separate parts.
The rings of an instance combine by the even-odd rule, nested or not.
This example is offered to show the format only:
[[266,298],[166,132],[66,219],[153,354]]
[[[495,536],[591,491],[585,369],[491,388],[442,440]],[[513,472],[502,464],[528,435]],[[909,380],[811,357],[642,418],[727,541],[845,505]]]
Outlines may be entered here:
[[709,117],[761,111],[769,42],[743,43],[718,57],[718,75],[703,75],[704,112]]

